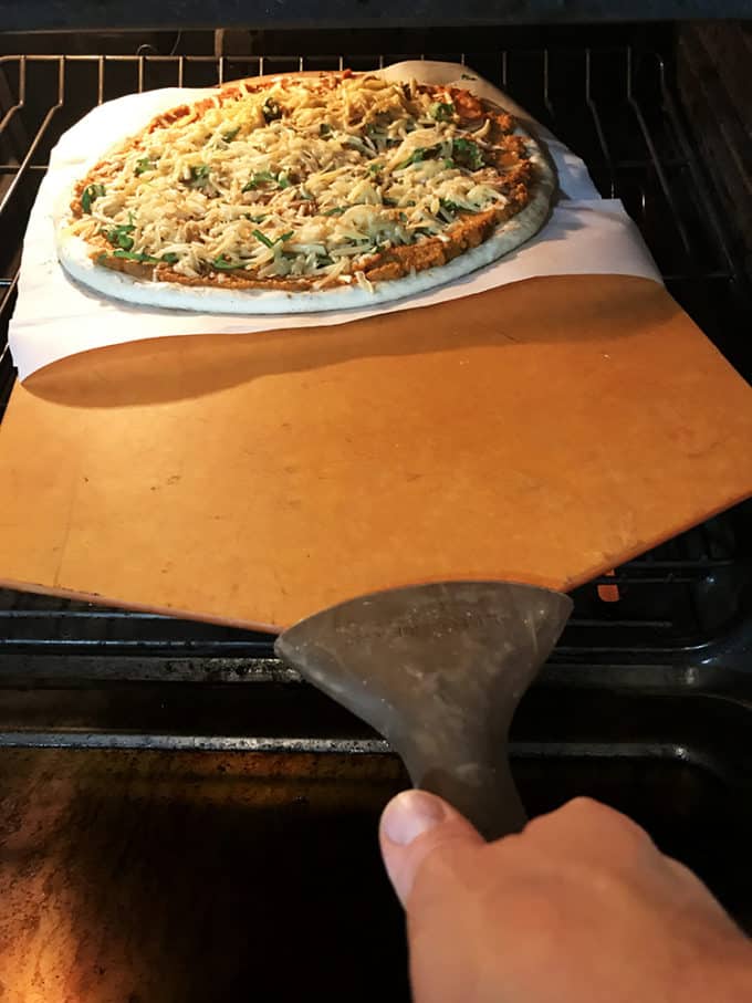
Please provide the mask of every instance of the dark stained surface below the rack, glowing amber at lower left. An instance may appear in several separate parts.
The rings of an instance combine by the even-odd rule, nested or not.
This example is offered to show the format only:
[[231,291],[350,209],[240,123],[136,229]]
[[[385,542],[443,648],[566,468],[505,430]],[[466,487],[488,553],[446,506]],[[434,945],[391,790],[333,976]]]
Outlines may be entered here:
[[[742,918],[743,847],[718,775],[680,758],[524,751],[531,809],[630,811]],[[408,1000],[376,822],[387,755],[0,750],[3,1003]]]

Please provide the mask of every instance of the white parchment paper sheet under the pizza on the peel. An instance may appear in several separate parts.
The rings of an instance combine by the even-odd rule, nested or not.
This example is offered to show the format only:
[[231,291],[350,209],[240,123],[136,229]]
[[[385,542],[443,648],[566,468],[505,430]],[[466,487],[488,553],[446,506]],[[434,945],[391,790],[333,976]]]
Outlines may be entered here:
[[345,324],[373,314],[416,310],[539,275],[624,274],[660,282],[635,223],[617,199],[602,199],[583,161],[473,71],[455,63],[406,62],[383,71],[394,80],[456,83],[516,114],[549,148],[561,194],[536,237],[493,264],[426,293],[374,309],[303,315],[228,316],[130,306],[88,292],[58,261],[53,215],[72,185],[114,144],[167,108],[199,100],[210,88],[169,87],[130,94],[90,112],[61,136],[50,157],[23,242],[19,295],[9,341],[19,377],[79,352],[123,342],[188,334],[238,334]]

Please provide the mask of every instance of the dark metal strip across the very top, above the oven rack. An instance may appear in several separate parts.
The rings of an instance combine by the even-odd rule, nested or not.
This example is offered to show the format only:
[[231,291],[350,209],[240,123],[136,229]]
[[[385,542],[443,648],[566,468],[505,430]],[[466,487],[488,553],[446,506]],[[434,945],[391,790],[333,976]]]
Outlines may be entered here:
[[540,22],[651,21],[680,18],[749,18],[750,0],[173,0],[163,8],[136,0],[27,0],[6,4],[6,31],[237,28],[378,28],[385,24],[503,24]]

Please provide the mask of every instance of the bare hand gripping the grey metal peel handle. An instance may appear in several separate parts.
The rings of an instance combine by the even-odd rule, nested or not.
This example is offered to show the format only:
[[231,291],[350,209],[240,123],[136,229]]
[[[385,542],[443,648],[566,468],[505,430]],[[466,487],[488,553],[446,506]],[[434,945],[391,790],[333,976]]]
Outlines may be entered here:
[[487,844],[406,791],[380,826],[416,1003],[750,1003],[752,941],[647,833],[586,798]]

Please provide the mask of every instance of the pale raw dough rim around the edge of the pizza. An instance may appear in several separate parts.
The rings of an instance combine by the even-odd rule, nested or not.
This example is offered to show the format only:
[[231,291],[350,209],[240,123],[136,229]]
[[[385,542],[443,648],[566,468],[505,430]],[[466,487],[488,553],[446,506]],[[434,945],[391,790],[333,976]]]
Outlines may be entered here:
[[219,283],[212,286],[187,285],[140,279],[103,268],[92,258],[91,245],[67,231],[69,207],[75,186],[67,192],[67,198],[61,200],[54,217],[58,257],[71,278],[87,289],[125,303],[170,311],[258,315],[317,313],[374,306],[415,296],[498,261],[529,241],[545,223],[557,188],[555,169],[541,146],[526,132],[521,128],[515,132],[524,137],[536,173],[528,205],[509,220],[499,223],[493,236],[445,264],[398,279],[375,282],[370,290],[356,283],[297,291],[223,289]]

